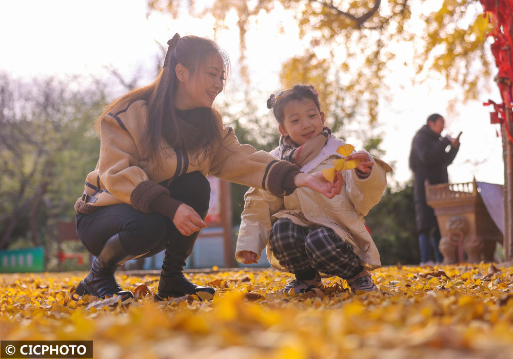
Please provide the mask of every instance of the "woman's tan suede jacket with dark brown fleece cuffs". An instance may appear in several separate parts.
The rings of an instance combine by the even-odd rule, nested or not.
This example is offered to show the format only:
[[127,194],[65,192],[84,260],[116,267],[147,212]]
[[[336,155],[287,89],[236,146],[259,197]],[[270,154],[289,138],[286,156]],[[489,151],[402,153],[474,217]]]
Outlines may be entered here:
[[[219,113],[212,111],[222,124]],[[148,213],[157,196],[169,194],[164,184],[175,176],[193,171],[283,195],[286,193],[285,174],[298,170],[297,166],[277,161],[267,152],[241,145],[229,126],[222,126],[222,143],[216,151],[200,156],[198,161],[194,153],[173,149],[162,138],[164,161],[154,167],[142,146],[146,121],[144,100],[120,104],[102,118],[100,159],[86,177],[84,194],[75,203],[76,211],[89,214],[101,206],[128,203]],[[189,162],[189,158],[194,161]]]

